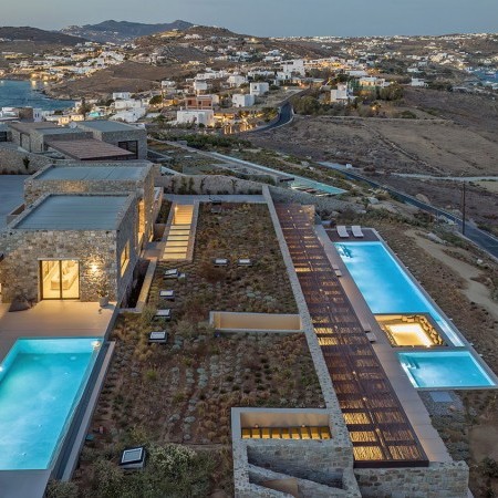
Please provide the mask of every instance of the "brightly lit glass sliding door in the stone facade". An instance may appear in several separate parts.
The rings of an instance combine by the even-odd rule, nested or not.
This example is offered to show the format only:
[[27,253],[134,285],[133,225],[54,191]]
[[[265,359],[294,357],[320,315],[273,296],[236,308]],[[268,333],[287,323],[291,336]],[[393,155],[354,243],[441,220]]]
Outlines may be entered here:
[[74,259],[40,261],[41,299],[80,299],[80,262]]

